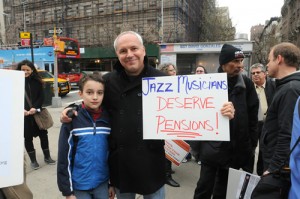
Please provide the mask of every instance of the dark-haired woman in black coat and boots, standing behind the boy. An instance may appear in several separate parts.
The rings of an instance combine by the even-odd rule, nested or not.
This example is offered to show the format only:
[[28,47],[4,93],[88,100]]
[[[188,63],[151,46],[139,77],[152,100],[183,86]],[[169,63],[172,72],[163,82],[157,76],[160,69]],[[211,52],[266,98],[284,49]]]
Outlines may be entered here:
[[[53,165],[55,164],[55,161],[50,156],[48,131],[40,130],[33,117],[34,114],[41,110],[43,105],[43,81],[33,63],[28,60],[24,60],[18,63],[17,70],[25,72],[25,93],[30,100],[30,102],[28,102],[25,97],[24,107],[25,149],[31,160],[30,165],[33,169],[38,169],[40,167],[36,160],[36,154],[33,145],[34,137],[40,138],[45,163]],[[30,106],[30,103],[32,104],[32,106]]]

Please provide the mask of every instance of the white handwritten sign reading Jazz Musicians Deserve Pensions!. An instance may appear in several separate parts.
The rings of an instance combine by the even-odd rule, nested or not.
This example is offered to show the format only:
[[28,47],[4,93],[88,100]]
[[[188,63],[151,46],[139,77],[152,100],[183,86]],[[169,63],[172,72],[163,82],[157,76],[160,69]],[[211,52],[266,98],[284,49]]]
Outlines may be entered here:
[[226,73],[142,81],[144,139],[229,141]]

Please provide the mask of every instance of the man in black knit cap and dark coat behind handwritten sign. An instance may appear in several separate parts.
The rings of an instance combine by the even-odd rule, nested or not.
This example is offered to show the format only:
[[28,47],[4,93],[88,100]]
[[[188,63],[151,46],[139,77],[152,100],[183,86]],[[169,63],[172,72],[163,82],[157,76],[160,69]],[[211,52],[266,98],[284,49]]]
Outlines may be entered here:
[[202,141],[199,145],[202,164],[194,199],[225,199],[229,168],[245,168],[255,152],[259,101],[251,79],[241,73],[244,57],[241,49],[230,44],[221,49],[218,72],[227,73],[228,98],[236,112],[229,121],[229,142]]

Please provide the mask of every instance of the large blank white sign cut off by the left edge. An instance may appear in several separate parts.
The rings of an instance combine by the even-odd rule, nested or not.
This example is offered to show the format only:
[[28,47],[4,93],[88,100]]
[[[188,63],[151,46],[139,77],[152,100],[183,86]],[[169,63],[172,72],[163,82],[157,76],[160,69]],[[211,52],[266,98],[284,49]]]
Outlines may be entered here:
[[24,72],[0,69],[0,188],[23,183]]

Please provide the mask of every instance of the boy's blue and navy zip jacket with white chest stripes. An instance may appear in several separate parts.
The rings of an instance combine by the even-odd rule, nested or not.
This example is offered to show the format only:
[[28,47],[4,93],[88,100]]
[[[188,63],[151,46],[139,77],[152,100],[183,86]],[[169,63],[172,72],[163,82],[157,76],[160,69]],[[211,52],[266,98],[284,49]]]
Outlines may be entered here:
[[93,120],[90,113],[79,106],[78,116],[64,123],[58,141],[57,184],[64,196],[74,190],[90,190],[109,179],[108,114],[102,111]]

